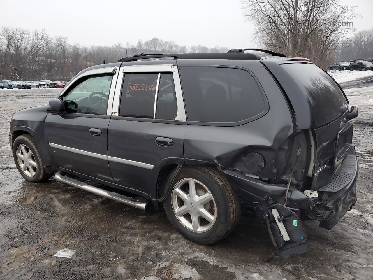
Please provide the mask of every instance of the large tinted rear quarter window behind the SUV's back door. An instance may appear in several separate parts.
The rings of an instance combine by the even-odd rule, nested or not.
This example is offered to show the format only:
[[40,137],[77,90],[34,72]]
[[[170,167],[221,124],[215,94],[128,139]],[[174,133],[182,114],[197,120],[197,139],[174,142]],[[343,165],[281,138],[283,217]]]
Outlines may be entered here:
[[239,122],[266,110],[253,76],[235,68],[180,67],[188,121]]

